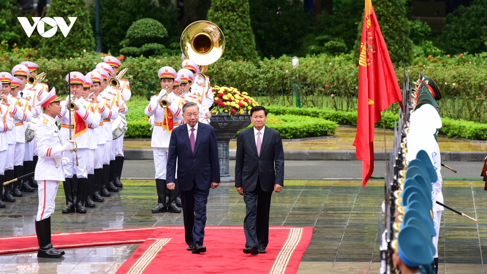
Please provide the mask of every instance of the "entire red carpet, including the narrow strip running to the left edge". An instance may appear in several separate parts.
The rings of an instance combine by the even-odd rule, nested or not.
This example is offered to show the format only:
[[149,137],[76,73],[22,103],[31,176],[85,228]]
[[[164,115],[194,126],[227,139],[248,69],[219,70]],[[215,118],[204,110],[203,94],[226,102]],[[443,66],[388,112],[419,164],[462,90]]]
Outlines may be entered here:
[[[147,227],[52,235],[58,249],[142,243],[117,274],[271,273],[295,274],[313,228],[271,227],[266,254],[244,254],[242,227],[206,227],[206,253],[186,251],[183,227]],[[37,251],[36,235],[0,237],[0,254]]]

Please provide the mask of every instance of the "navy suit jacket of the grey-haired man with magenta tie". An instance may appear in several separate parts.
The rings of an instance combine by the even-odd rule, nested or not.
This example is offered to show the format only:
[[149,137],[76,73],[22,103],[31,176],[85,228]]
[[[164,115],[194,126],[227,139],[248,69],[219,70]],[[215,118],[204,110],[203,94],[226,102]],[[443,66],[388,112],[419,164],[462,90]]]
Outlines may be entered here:
[[210,125],[198,123],[194,155],[191,152],[187,125],[184,124],[173,129],[169,141],[166,183],[175,181],[176,160],[178,162],[177,187],[179,190],[191,190],[194,181],[196,181],[196,186],[202,190],[209,189],[211,182],[219,183],[220,163],[215,129]]

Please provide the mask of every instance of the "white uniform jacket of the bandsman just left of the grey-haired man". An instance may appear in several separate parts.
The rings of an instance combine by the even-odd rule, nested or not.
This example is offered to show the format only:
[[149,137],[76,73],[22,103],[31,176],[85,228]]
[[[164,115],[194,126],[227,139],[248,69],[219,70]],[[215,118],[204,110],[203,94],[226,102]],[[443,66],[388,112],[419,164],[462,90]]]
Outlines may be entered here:
[[168,101],[170,101],[168,109],[171,112],[171,114],[168,113],[169,116],[166,115],[166,109],[159,105],[162,99],[159,95],[152,96],[149,105],[145,109],[147,116],[154,117],[154,129],[150,141],[152,147],[169,148],[171,134],[163,127],[165,117],[168,118],[168,123],[173,124],[173,128],[177,127],[178,121],[183,119],[182,108],[178,106],[178,100],[175,99],[172,93],[170,95],[172,96],[168,96]]

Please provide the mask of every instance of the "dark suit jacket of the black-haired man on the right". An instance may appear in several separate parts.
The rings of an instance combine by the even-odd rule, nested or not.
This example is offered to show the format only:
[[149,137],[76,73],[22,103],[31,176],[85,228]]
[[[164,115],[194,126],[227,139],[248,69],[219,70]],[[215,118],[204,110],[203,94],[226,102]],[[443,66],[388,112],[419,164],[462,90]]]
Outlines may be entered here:
[[263,191],[273,191],[275,184],[284,185],[284,151],[281,134],[265,127],[260,157],[257,156],[254,127],[243,130],[237,138],[235,159],[235,186],[244,191],[253,191],[257,176]]

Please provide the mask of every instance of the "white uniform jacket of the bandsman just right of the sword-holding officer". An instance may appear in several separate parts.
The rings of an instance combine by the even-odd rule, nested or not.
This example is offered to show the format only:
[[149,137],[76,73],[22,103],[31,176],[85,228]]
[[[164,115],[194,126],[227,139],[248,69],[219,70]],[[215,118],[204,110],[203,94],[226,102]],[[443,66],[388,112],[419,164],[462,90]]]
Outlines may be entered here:
[[[76,141],[77,148],[89,149],[92,147],[93,140],[90,139],[90,137],[92,136],[88,133],[88,125],[95,122],[93,120],[94,115],[86,109],[86,107],[89,105],[89,102],[87,102],[83,98],[79,98],[76,100],[83,100],[83,107],[78,108],[76,110],[76,113],[81,117],[82,122],[84,122],[87,127],[86,127],[86,131],[81,135],[78,135],[77,137],[75,137],[75,130],[71,129],[71,137]],[[69,111],[66,108],[67,103],[68,100],[64,100],[61,102],[61,106],[62,106],[61,114],[56,116],[56,120],[58,122],[61,122],[61,136],[63,138],[63,142],[69,139]],[[71,125],[74,124],[75,124],[75,112],[71,112]]]

